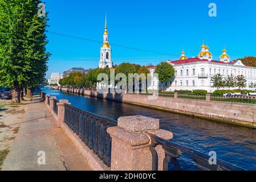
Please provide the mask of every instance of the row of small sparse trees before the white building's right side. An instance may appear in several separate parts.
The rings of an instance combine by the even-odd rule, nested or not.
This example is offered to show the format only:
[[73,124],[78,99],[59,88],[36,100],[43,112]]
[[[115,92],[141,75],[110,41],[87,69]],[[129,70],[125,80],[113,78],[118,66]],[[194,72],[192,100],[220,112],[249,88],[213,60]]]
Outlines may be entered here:
[[[239,89],[245,88],[246,87],[246,78],[243,75],[229,75],[225,78],[222,77],[222,75],[217,74],[214,75],[211,78],[212,81],[212,87],[220,89],[220,88],[236,88],[238,87]],[[254,88],[256,85],[251,84],[251,88]]]

